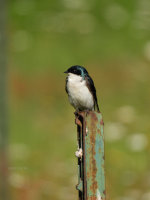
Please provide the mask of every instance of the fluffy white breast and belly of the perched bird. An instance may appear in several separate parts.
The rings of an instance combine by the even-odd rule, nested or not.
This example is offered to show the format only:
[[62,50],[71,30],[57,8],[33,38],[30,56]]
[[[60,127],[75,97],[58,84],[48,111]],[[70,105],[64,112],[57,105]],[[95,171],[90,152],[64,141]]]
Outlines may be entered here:
[[94,108],[93,96],[81,76],[69,73],[67,89],[69,101],[75,109],[92,110]]

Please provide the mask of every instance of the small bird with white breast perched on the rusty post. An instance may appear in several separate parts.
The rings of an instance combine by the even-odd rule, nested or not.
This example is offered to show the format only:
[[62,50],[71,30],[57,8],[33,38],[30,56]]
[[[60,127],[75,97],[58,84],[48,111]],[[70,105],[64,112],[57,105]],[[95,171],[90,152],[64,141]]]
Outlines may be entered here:
[[65,90],[70,104],[79,111],[100,112],[94,82],[88,71],[80,65],[68,68]]

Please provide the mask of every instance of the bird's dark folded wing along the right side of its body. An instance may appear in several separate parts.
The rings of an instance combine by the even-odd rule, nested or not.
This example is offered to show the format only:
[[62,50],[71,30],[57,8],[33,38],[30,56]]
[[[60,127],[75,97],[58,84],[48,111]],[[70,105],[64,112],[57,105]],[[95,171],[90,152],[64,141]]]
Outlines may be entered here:
[[93,95],[93,99],[94,99],[94,110],[95,108],[97,109],[98,112],[100,112],[99,110],[99,106],[98,106],[98,103],[97,103],[97,96],[96,96],[96,89],[95,89],[95,86],[94,86],[94,82],[92,80],[92,78],[87,75],[85,77],[85,80],[86,80],[86,85],[88,87],[88,89],[90,90],[90,92],[92,93]]

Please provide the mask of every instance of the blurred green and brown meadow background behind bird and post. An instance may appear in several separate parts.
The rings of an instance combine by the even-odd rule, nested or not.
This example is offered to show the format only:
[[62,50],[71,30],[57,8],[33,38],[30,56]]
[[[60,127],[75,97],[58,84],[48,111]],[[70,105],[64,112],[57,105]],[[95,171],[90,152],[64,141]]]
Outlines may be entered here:
[[11,0],[8,15],[12,199],[77,199],[63,72],[79,64],[105,122],[107,200],[149,200],[150,1]]

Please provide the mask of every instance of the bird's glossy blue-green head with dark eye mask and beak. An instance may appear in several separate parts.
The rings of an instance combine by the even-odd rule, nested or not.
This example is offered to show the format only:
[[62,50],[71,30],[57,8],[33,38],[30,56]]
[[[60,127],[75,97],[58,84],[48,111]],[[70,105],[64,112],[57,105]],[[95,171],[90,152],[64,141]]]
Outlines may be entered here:
[[88,75],[87,70],[79,65],[74,65],[72,67],[70,67],[69,69],[67,69],[67,71],[65,71],[64,73],[72,73],[78,76],[81,76],[83,78],[83,80],[85,79],[85,76]]

